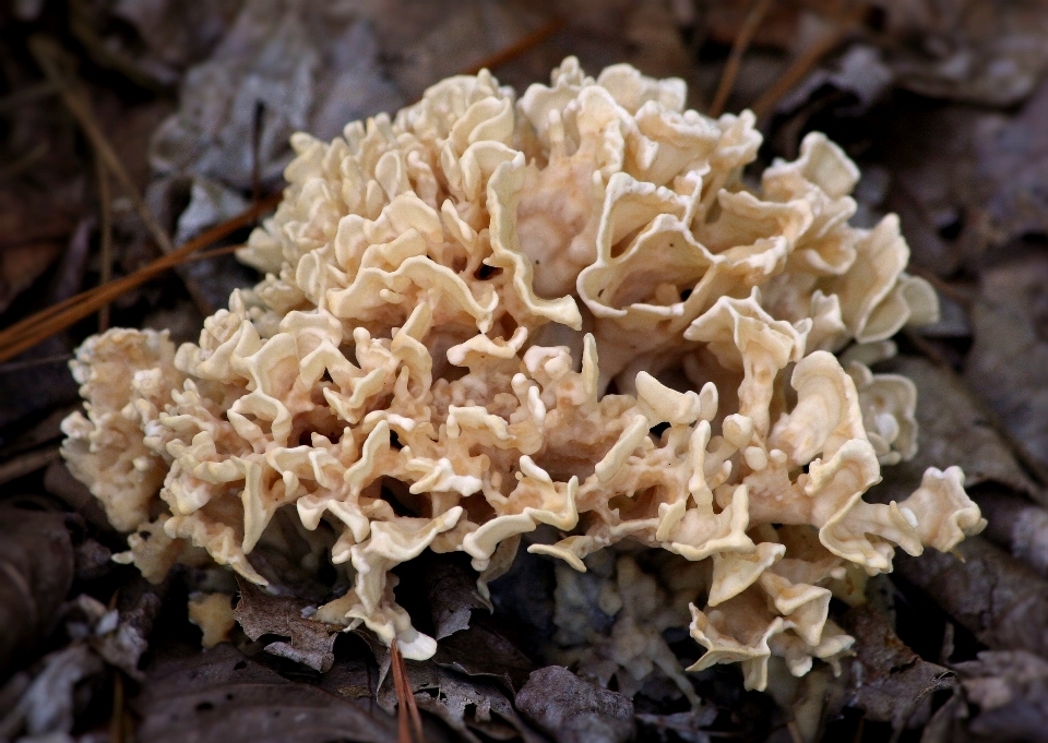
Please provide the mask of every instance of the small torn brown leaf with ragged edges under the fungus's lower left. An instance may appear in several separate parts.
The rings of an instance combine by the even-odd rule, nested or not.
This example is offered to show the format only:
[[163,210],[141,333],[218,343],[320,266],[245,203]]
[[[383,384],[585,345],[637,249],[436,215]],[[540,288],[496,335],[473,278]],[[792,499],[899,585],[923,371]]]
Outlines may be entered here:
[[240,602],[234,611],[237,622],[251,639],[278,635],[265,646],[266,652],[294,660],[323,673],[334,662],[336,627],[303,615],[307,603],[289,596],[272,596],[238,576]]

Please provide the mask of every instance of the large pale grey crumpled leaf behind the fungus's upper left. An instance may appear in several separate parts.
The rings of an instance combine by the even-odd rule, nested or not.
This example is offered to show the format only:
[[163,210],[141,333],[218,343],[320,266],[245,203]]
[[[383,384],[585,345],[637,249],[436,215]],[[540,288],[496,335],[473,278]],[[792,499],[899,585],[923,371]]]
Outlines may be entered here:
[[293,132],[330,137],[346,121],[403,104],[377,53],[352,13],[299,0],[243,3],[211,57],[187,72],[180,108],[152,143],[154,171],[249,190],[258,141],[261,177],[278,179]]

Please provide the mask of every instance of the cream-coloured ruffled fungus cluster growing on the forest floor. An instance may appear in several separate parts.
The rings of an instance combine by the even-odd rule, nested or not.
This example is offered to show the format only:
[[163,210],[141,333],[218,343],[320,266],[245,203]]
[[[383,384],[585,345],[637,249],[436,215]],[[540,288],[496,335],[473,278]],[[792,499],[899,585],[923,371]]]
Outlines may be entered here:
[[576,570],[622,540],[701,562],[693,668],[762,688],[770,656],[800,675],[846,651],[827,610],[849,576],[984,525],[956,467],[862,499],[916,447],[913,384],[864,360],[936,296],[894,216],[848,225],[836,145],[810,134],[751,181],[752,115],[684,93],[569,58],[520,99],[483,71],[296,134],[239,254],[265,279],[198,345],[114,329],[72,362],[63,453],[130,532],[121,559],[265,585],[252,550],[284,508],[353,580],[317,618],[424,659],[391,568],[463,551],[483,587],[548,524],[528,549]]

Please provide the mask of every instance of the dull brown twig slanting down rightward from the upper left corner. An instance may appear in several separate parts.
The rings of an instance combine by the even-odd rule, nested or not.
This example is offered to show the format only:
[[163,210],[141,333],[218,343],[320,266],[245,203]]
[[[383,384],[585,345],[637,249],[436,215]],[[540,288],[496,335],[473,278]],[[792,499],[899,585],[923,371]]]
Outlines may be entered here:
[[[117,153],[102,133],[102,129],[98,127],[98,122],[95,119],[95,115],[91,109],[91,104],[83,88],[72,73],[62,70],[62,64],[59,60],[62,59],[64,52],[62,52],[61,48],[53,40],[44,36],[34,36],[31,38],[29,49],[40,65],[40,69],[44,71],[44,74],[47,75],[47,79],[58,85],[66,107],[84,131],[84,135],[88,142],[91,142],[96,156],[102,159],[106,169],[117,179],[117,182],[120,183],[121,188],[131,199],[131,203],[134,205],[139,218],[145,224],[146,229],[148,229],[156,244],[159,245],[160,250],[165,253],[174,251],[175,244],[171,242],[167,230],[157,221],[153,215],[153,211],[135,188],[131,176],[128,175],[123,164],[120,163],[120,158],[117,157]],[[186,284],[186,289],[189,291],[201,313],[205,316],[210,315],[214,311],[214,308],[196,281],[193,280],[192,277],[183,275],[182,283]]]

